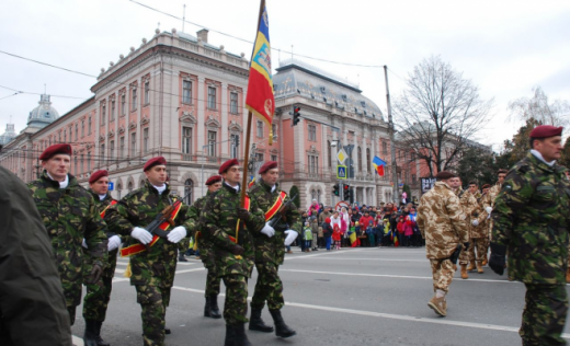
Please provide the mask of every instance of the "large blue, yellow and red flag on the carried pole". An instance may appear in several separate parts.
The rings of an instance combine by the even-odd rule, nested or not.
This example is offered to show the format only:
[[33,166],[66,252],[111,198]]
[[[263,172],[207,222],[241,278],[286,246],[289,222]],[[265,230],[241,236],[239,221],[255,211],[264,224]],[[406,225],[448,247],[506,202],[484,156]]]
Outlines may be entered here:
[[273,143],[271,123],[275,112],[273,96],[273,77],[271,70],[270,22],[265,0],[261,0],[258,21],[258,36],[251,54],[250,77],[246,107],[256,117],[265,122],[270,129],[270,146]]

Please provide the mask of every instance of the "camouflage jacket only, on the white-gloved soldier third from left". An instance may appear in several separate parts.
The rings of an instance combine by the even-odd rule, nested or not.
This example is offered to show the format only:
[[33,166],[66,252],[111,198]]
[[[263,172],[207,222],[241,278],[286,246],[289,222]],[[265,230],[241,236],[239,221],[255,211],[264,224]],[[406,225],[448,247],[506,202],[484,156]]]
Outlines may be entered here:
[[[147,181],[145,186],[130,192],[116,205],[105,212],[105,222],[109,229],[119,235],[130,235],[135,227],[146,228],[155,220],[167,206],[173,204],[180,197],[171,193],[170,186],[159,194]],[[186,228],[187,235],[194,229],[194,220],[186,218],[187,206],[182,206],[176,218],[175,226]],[[172,227],[169,228],[172,230]],[[138,244],[138,240],[128,237],[124,247]],[[172,287],[174,272],[176,269],[178,244],[171,243],[166,238],[159,238],[150,247],[130,256],[130,285],[149,285],[157,287]]]

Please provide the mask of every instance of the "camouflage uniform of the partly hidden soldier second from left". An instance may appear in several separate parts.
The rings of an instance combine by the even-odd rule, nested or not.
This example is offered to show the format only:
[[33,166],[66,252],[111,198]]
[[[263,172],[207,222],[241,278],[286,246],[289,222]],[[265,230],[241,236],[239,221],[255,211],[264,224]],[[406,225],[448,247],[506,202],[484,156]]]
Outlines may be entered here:
[[[107,193],[106,197],[101,200],[99,195],[91,192],[93,196],[93,200],[95,201],[96,212],[101,215],[113,200],[111,194]],[[113,232],[109,232],[107,230],[107,239],[115,235]],[[91,257],[89,256],[89,252],[87,249],[83,249],[86,255],[86,263],[83,268],[83,275],[89,275],[92,269]],[[111,299],[111,290],[113,289],[113,277],[115,276],[115,268],[117,266],[117,253],[118,249],[113,250],[109,253],[109,260],[105,263],[105,268],[103,269],[103,275],[101,275],[101,280],[94,284],[87,284],[87,293],[83,299],[83,318],[86,320],[94,320],[94,321],[105,321],[106,309],[109,305],[109,301]]]

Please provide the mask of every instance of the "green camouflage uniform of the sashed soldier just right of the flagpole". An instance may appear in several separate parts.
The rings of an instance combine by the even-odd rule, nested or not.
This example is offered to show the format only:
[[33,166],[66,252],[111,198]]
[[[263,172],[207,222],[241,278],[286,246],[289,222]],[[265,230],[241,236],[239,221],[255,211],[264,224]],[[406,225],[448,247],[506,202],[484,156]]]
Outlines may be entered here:
[[[255,203],[263,212],[270,210],[280,198],[281,188],[278,185],[271,192],[271,186],[266,185],[263,180],[260,180],[253,185],[249,192],[252,203]],[[286,196],[283,204],[286,204],[289,197]],[[253,235],[255,243],[255,268],[258,269],[258,282],[255,284],[255,291],[251,299],[251,309],[262,310],[267,301],[270,310],[280,310],[285,304],[283,300],[283,282],[278,276],[280,265],[285,258],[285,233],[284,231],[290,229],[300,234],[300,212],[293,204],[287,209],[285,218],[274,227],[275,234],[272,238],[263,233]]]

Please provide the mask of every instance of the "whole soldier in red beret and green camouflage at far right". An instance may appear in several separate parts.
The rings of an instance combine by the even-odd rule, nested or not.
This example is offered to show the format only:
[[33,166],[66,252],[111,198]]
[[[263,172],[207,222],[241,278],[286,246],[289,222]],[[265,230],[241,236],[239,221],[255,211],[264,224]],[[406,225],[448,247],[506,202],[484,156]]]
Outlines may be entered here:
[[568,312],[570,182],[557,164],[562,127],[531,131],[531,152],[509,171],[494,200],[489,266],[502,275],[509,251],[509,279],[526,286],[523,345],[566,345]]

